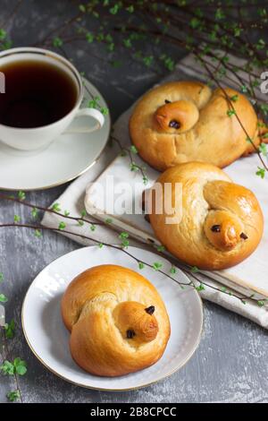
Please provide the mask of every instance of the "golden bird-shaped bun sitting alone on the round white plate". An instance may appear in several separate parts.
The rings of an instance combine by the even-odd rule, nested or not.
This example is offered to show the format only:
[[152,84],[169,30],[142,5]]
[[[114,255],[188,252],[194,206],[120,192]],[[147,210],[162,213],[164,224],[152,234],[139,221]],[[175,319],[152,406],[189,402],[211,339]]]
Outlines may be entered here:
[[112,264],[73,279],[62,314],[71,331],[71,356],[91,374],[116,376],[153,365],[170,337],[169,317],[155,287]]

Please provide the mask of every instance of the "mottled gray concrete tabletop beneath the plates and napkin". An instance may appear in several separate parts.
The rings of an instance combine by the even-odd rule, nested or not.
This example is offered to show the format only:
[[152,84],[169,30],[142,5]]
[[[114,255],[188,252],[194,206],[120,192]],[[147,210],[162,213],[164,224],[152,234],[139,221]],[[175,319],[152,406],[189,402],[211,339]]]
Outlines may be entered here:
[[[14,1],[0,1],[1,19],[12,9]],[[71,16],[71,1],[24,1],[16,19],[9,24],[14,46],[42,39],[59,21]],[[91,22],[88,21],[90,26]],[[92,23],[93,24],[93,23]],[[0,23],[1,26],[1,23]],[[114,69],[107,60],[105,47],[80,43],[67,47],[74,63],[104,94],[113,120],[160,75],[132,62],[124,51],[122,65]],[[146,46],[147,48],[147,46]],[[165,47],[167,49],[167,47]],[[180,54],[171,51],[175,59]],[[0,163],[1,165],[1,163]],[[15,168],[14,168],[15,170]],[[66,185],[28,194],[28,199],[49,205]],[[0,222],[12,221],[14,213],[29,220],[29,211],[0,202]],[[205,326],[200,347],[188,364],[169,379],[140,391],[89,391],[57,378],[41,365],[28,348],[21,332],[21,304],[30,282],[55,257],[79,245],[63,236],[46,233],[40,241],[25,229],[0,229],[0,271],[4,272],[2,291],[9,296],[8,318],[14,317],[18,328],[9,342],[13,357],[28,362],[28,374],[19,379],[24,402],[267,402],[268,347],[267,332],[252,322],[231,314],[217,305],[205,303]],[[0,354],[1,356],[1,354]],[[4,356],[2,356],[4,357]],[[13,378],[0,377],[0,402],[14,389]]]

